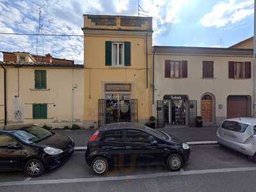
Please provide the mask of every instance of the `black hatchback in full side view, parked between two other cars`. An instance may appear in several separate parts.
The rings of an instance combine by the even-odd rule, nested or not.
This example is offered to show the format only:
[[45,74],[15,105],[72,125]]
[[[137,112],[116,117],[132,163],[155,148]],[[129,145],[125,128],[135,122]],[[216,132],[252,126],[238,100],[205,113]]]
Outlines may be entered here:
[[116,123],[100,127],[88,141],[86,163],[97,175],[109,166],[166,165],[178,171],[189,159],[189,145],[141,124]]

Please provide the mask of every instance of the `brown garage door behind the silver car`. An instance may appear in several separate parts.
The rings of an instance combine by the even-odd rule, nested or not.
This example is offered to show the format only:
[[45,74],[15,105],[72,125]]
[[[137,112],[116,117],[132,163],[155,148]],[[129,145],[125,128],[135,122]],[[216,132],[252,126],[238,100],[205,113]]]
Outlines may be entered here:
[[247,96],[228,96],[228,118],[250,116],[250,99]]

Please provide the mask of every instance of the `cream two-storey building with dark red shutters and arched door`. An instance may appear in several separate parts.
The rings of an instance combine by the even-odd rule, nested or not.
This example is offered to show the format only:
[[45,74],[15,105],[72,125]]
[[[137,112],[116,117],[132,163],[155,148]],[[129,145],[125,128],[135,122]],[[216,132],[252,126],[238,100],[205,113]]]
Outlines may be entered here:
[[253,50],[154,46],[154,115],[164,124],[252,116]]

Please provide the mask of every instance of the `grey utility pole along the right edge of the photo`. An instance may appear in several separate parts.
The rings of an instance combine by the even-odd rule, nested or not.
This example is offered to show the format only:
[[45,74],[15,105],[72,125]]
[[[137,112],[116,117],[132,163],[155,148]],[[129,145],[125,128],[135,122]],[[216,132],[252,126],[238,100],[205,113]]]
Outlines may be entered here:
[[256,0],[254,0],[254,33],[253,33],[253,117],[256,116]]

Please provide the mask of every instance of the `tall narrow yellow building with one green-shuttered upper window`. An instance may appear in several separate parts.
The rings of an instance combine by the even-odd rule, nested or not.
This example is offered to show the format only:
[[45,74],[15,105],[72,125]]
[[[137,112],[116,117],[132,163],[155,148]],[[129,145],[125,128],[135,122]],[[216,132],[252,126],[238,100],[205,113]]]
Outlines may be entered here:
[[84,128],[152,114],[152,18],[84,15]]

